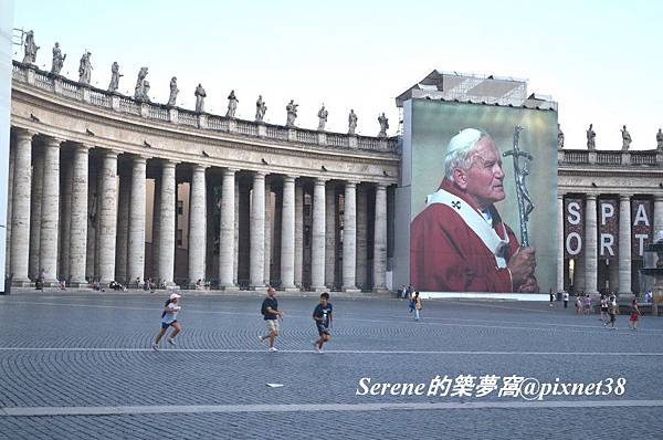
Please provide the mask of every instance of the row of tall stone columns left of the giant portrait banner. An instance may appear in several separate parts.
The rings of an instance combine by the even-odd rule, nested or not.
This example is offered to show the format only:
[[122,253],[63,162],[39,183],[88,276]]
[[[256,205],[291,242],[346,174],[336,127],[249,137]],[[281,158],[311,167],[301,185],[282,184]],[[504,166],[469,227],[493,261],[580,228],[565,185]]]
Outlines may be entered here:
[[[270,263],[278,262],[277,279],[283,290],[327,290],[335,284],[334,272],[339,268],[341,276],[337,284],[344,291],[357,291],[358,272],[364,271],[362,284],[368,279],[366,243],[372,241],[372,285],[368,287],[375,291],[387,287],[385,184],[176,163],[80,145],[22,128],[14,130],[12,139],[7,272],[12,274],[14,284],[27,285],[40,275],[46,285],[62,279],[84,285],[93,279],[107,284],[113,280],[131,282],[151,276],[167,287],[175,287],[177,188],[183,172],[190,184],[187,247],[190,284],[211,277],[218,280],[219,289],[239,289],[239,260],[248,251],[250,289],[266,289]],[[64,146],[66,159],[61,155]],[[155,180],[149,269],[146,268],[146,230],[150,221],[146,216],[146,203],[150,202],[148,175]],[[213,209],[213,201],[209,200],[213,193],[212,175],[221,187],[218,228],[208,224],[214,219],[209,212]],[[271,186],[278,189],[274,192],[276,209],[272,210]],[[360,203],[358,188],[361,188]],[[371,193],[375,189],[375,200],[370,201],[375,203],[372,228],[366,224],[366,188],[371,188]],[[344,200],[340,221],[335,210],[337,193]],[[305,197],[311,198],[311,224],[303,220]],[[343,241],[337,243],[340,223]],[[249,231],[248,241],[240,237],[240,228]],[[372,229],[372,240],[367,239],[367,229]],[[218,265],[212,273],[208,262],[214,259],[214,252],[210,252],[213,247],[210,241],[214,238],[211,230],[217,230],[219,237]],[[311,243],[305,243],[305,237],[309,237]],[[336,259],[336,252],[327,249],[329,245],[343,245],[339,252],[343,256]],[[307,259],[305,249],[309,249]],[[309,268],[305,268],[306,262]],[[309,274],[308,283],[304,273]]]

